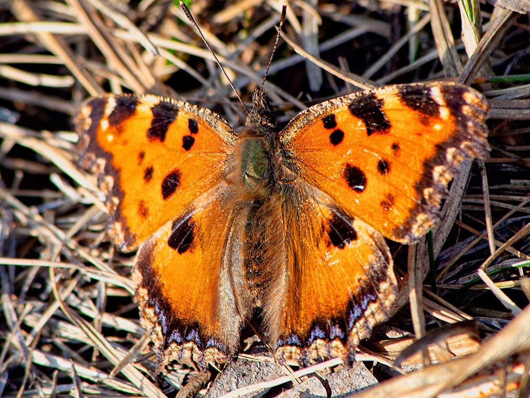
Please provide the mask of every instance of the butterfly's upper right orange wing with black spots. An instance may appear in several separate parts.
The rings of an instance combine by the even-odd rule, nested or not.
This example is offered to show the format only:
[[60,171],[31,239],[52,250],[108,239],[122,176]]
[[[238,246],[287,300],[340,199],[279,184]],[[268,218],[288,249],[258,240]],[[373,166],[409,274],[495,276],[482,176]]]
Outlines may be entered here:
[[385,237],[410,243],[438,221],[462,160],[487,155],[487,111],[464,85],[388,86],[308,108],[280,140],[299,178]]

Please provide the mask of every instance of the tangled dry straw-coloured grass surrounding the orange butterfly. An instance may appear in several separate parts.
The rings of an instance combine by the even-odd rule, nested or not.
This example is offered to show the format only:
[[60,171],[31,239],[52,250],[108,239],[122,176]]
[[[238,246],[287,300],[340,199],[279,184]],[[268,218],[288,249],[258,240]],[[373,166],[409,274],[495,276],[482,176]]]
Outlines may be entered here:
[[[195,373],[173,364],[155,375],[131,300],[133,260],[108,241],[95,179],[76,167],[71,117],[87,95],[107,91],[178,97],[235,126],[242,109],[181,10],[156,2],[169,5],[158,21],[155,8],[142,10],[149,2],[136,3],[0,1],[0,396],[174,396]],[[357,88],[444,77],[475,82],[492,105],[491,158],[469,162],[452,184],[431,242],[434,276],[427,241],[408,254],[392,248],[399,304],[411,305],[361,347],[357,359],[388,380],[357,396],[529,396],[530,75],[507,75],[528,73],[530,41],[528,16],[500,8],[527,3],[315,4],[291,2],[289,44],[271,67],[267,89],[282,121]],[[261,82],[280,7],[191,5],[245,100]],[[298,388],[304,377],[255,391]]]

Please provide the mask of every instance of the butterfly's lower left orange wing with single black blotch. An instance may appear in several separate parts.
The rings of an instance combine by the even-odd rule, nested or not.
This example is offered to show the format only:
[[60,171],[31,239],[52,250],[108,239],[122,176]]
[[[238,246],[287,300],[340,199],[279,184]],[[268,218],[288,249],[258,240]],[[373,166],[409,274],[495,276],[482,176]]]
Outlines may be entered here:
[[[230,189],[193,207],[158,230],[140,248],[133,273],[142,325],[153,330],[157,368],[192,358],[202,368],[223,364],[239,347],[241,323],[251,310],[242,275],[241,237]],[[239,271],[239,272],[238,272]]]

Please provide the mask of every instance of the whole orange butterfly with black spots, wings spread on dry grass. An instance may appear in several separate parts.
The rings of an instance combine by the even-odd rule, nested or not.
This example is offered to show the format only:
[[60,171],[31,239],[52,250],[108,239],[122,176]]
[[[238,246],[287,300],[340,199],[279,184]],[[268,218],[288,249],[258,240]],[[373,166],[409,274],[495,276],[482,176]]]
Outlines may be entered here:
[[99,175],[114,243],[138,249],[158,370],[232,360],[253,316],[279,360],[351,363],[397,293],[385,238],[436,225],[462,160],[488,154],[487,112],[451,82],[356,92],[283,129],[258,88],[238,132],[154,95],[85,102],[80,164]]

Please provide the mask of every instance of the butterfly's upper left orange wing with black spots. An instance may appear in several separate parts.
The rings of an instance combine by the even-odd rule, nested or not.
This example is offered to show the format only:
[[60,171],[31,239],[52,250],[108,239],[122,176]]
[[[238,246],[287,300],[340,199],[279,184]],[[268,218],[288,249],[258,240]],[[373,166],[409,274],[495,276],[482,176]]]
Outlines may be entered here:
[[107,96],[77,119],[81,164],[100,173],[111,234],[130,251],[229,172],[235,132],[216,114],[181,101]]

